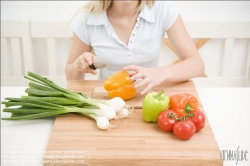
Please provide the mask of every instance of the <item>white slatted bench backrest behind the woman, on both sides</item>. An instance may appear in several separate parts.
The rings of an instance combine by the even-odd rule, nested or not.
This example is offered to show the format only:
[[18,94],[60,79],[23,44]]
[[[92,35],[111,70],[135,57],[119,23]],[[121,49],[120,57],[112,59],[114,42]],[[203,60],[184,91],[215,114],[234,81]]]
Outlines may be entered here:
[[[220,55],[222,62],[219,66],[220,77],[211,77],[205,73],[207,77],[196,79],[198,83],[209,85],[211,82],[212,85],[219,79],[222,82],[221,85],[250,86],[250,22],[185,22],[185,26],[193,39],[199,39],[196,43],[198,49],[210,39],[225,41]],[[64,64],[72,36],[69,22],[1,21],[1,85],[26,86],[27,81],[23,76],[28,71],[34,71],[61,86],[66,86]],[[242,66],[244,76],[240,77],[231,75],[237,39],[248,42]],[[62,40],[64,42],[61,42]],[[164,41],[171,49],[171,45],[167,44],[167,36]],[[44,57],[39,58],[38,54]],[[97,77],[86,75],[86,79],[97,79]],[[229,80],[230,84],[228,84]]]

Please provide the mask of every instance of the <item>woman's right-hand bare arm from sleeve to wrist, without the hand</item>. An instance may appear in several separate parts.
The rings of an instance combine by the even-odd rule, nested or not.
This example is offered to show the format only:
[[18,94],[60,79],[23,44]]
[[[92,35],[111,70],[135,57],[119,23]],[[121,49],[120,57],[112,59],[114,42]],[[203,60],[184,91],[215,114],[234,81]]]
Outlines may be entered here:
[[168,38],[174,47],[177,56],[182,60],[179,63],[166,66],[166,81],[185,81],[201,76],[204,73],[204,63],[190,38],[181,16],[167,31]]

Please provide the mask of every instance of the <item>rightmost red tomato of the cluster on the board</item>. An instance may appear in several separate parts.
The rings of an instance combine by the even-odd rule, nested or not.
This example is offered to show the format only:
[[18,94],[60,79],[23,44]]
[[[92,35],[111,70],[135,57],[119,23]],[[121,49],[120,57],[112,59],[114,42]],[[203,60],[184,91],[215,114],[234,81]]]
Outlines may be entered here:
[[196,127],[196,131],[199,131],[205,127],[205,115],[199,110],[193,110],[192,112],[194,113],[194,117],[188,118],[188,120],[192,121]]

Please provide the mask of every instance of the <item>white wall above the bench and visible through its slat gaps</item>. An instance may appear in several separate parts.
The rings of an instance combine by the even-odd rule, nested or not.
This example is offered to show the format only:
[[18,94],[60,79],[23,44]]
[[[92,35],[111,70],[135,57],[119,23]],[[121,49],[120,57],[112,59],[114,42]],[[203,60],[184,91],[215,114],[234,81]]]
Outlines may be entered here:
[[[21,21],[68,21],[72,15],[87,1],[1,1],[1,20]],[[214,21],[214,22],[250,22],[249,1],[173,1],[185,21]],[[234,49],[234,64],[232,76],[244,76],[245,59],[247,56],[247,40],[237,39]],[[64,75],[64,65],[67,60],[71,41],[69,39],[57,40],[57,56],[60,75]],[[208,76],[221,76],[220,64],[222,61],[224,41],[221,39],[210,40],[199,50],[206,65]],[[46,74],[45,39],[33,41],[36,71]],[[166,56],[167,55],[167,56]],[[160,65],[171,64],[177,57],[162,45]],[[46,59],[46,58],[45,58]],[[243,67],[242,67],[243,66]]]

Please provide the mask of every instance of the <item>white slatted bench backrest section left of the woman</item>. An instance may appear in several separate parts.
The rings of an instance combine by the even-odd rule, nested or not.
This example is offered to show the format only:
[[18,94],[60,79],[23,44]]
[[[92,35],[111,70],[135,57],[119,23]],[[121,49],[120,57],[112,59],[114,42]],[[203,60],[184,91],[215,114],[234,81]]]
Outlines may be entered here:
[[[1,24],[2,86],[26,86],[27,81],[23,76],[28,71],[42,74],[57,84],[66,86],[67,80],[64,74],[58,71],[58,62],[63,58],[65,64],[69,53],[73,37],[69,22],[1,21]],[[58,55],[60,52],[57,50],[60,39],[68,41],[65,46],[68,49],[63,50],[63,57]],[[37,50],[36,46],[41,41],[42,50]],[[37,57],[36,54],[41,54],[40,52],[45,54],[41,55],[44,57]],[[38,69],[39,63],[46,72]],[[64,71],[64,64],[60,66],[61,73]],[[87,74],[86,79],[97,79],[97,76]]]

